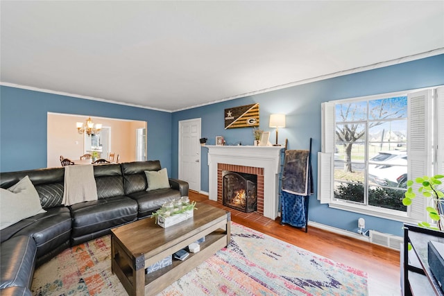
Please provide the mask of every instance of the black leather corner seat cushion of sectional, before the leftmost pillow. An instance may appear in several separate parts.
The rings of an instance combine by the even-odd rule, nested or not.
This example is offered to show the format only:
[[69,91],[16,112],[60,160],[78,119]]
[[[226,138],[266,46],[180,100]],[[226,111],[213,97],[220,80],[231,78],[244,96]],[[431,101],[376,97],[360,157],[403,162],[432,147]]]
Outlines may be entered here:
[[32,236],[37,246],[37,258],[67,245],[71,235],[71,214],[67,207],[51,208],[43,214],[21,220],[1,231],[1,240],[11,236]]

